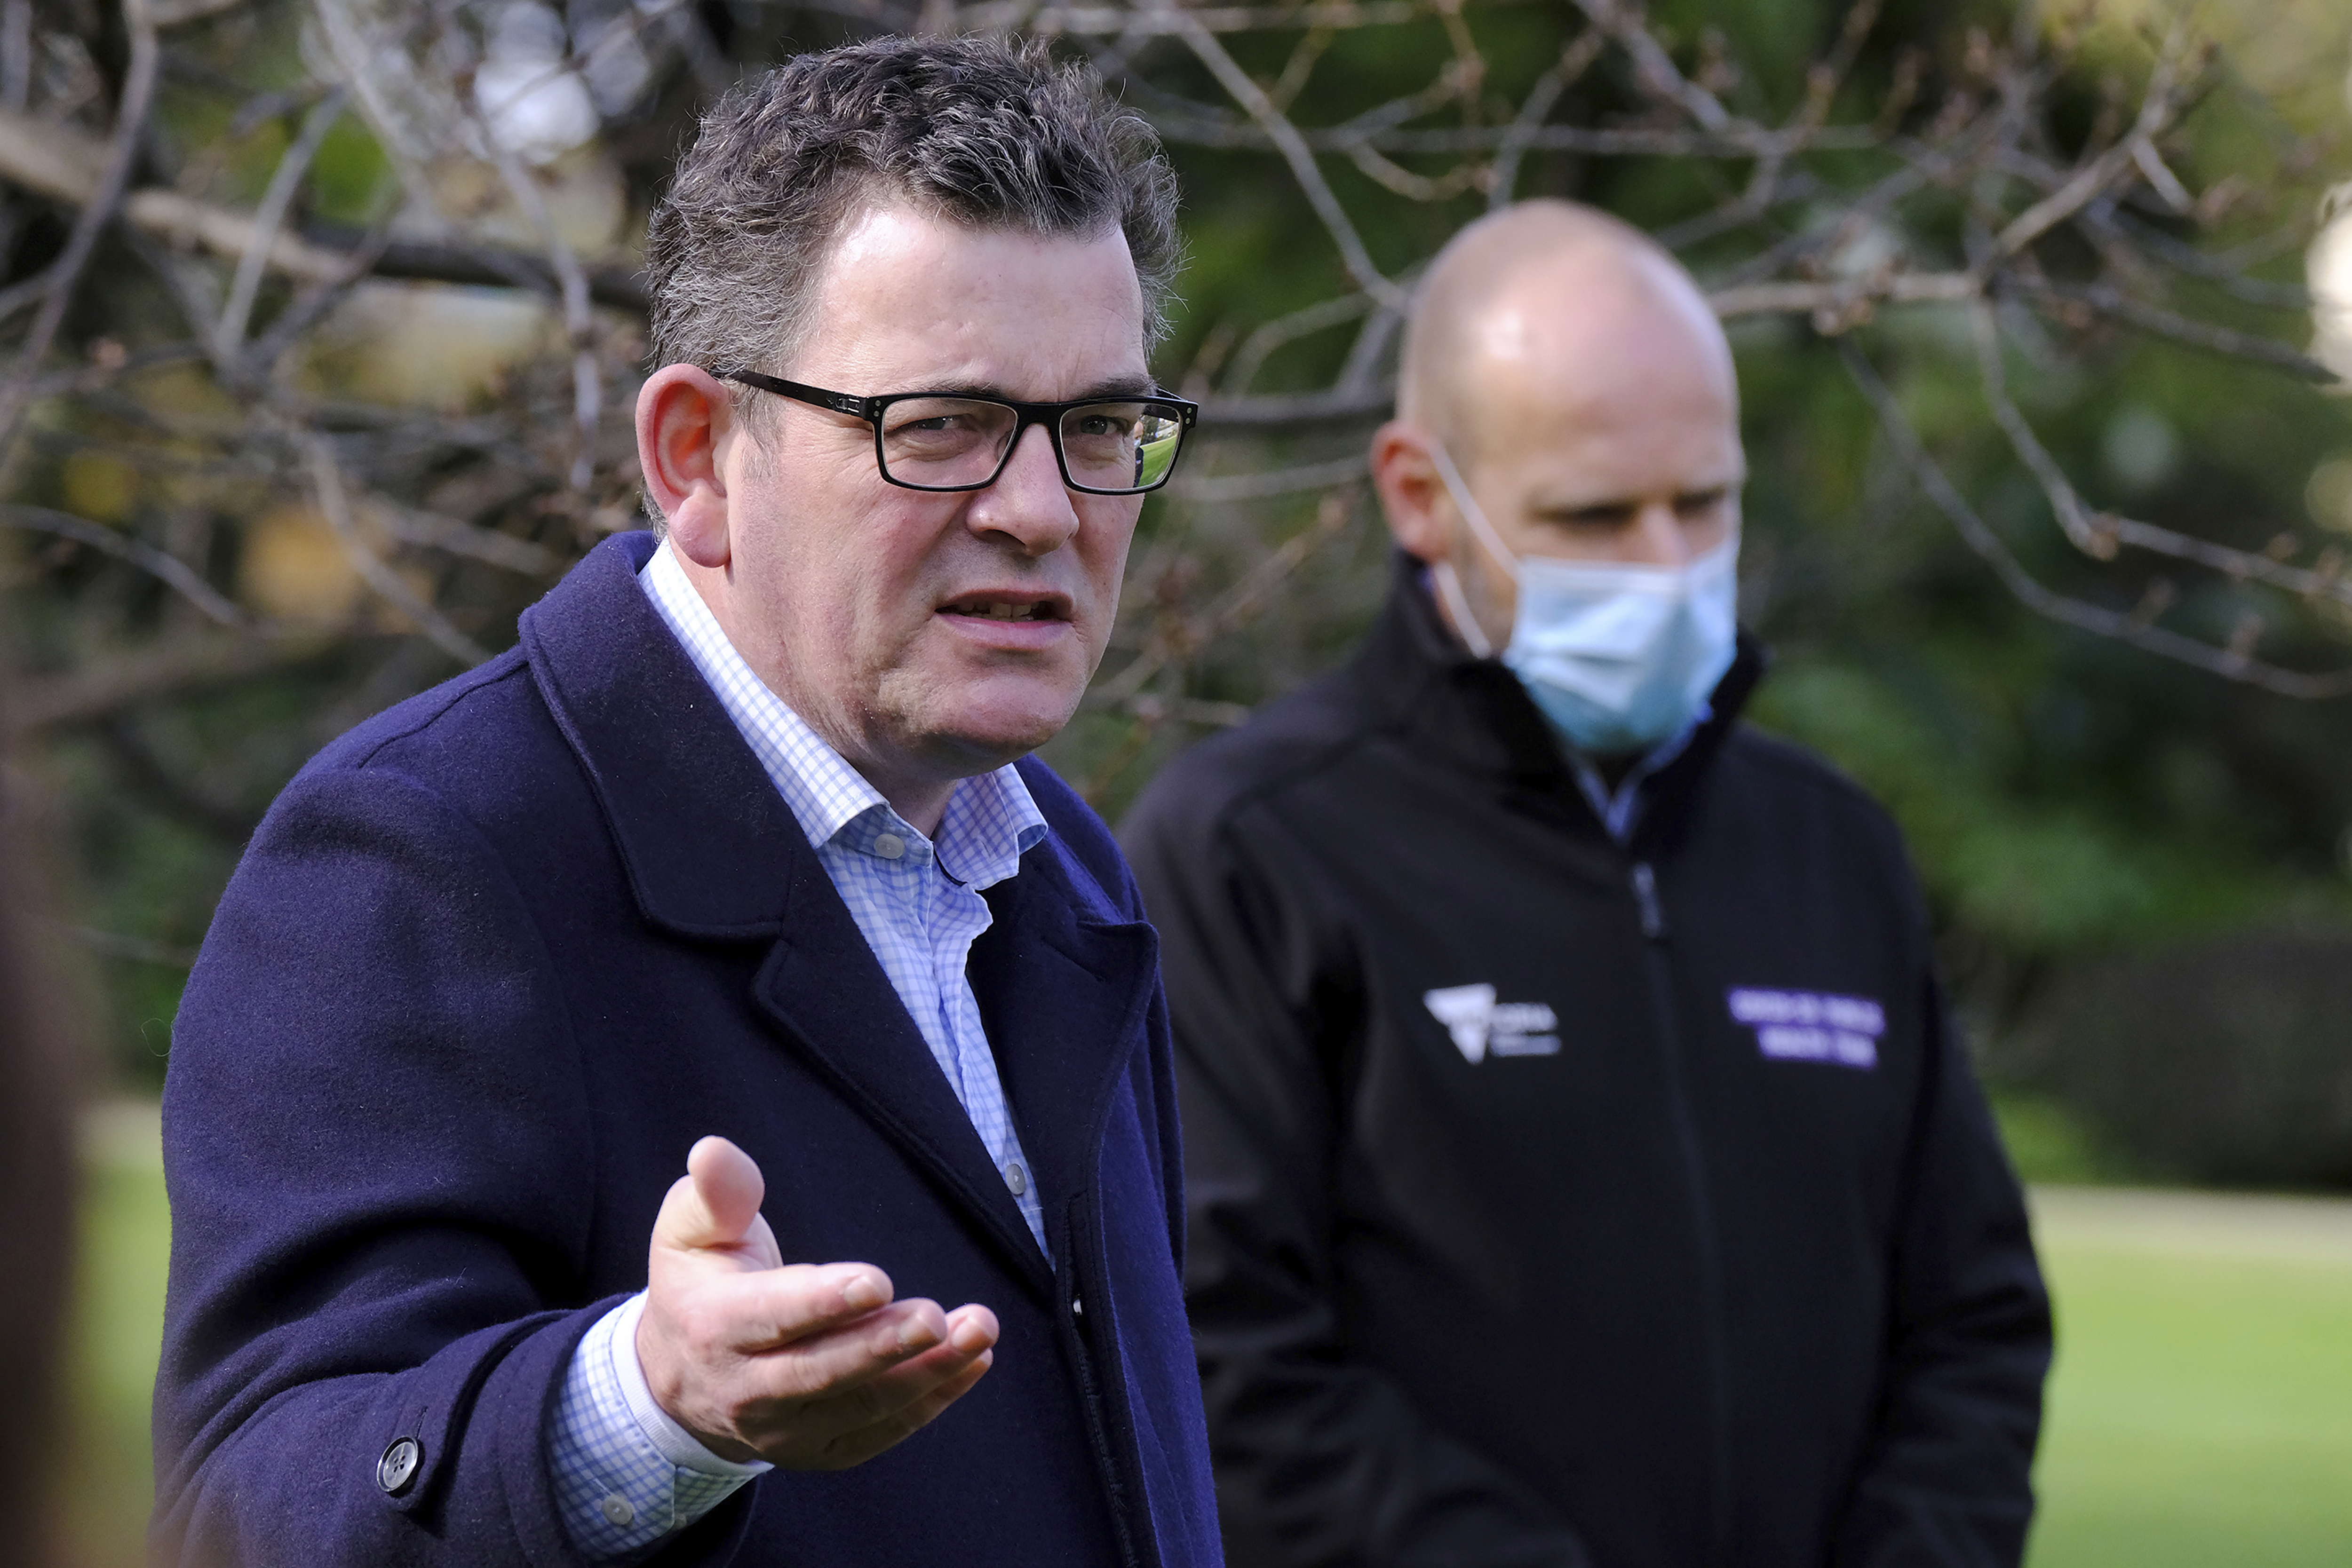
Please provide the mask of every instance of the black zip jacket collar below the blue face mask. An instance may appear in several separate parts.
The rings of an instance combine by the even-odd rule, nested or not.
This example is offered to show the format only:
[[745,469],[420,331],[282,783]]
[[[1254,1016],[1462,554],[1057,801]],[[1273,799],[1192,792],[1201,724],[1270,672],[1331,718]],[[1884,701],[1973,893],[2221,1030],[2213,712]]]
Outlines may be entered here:
[[[1635,849],[1675,830],[1769,663],[1764,644],[1740,630],[1738,656],[1708,698],[1708,722],[1644,785],[1649,804]],[[1423,585],[1421,562],[1402,550],[1388,602],[1352,672],[1367,701],[1418,757],[1477,773],[1529,809],[1566,813],[1604,835],[1526,686],[1501,658],[1477,658],[1461,644]]]

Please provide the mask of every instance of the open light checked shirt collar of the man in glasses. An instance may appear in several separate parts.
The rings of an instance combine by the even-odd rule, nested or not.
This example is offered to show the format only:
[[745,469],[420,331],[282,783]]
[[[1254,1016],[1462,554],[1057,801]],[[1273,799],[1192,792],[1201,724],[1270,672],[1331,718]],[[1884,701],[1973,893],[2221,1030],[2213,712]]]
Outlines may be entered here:
[[[753,672],[666,543],[654,548],[637,583],[776,783],[776,792],[814,849],[840,842],[844,849],[891,860],[934,853],[934,844]],[[896,853],[882,853],[889,849],[887,839],[898,842]],[[936,853],[943,872],[985,889],[1018,872],[1021,856],[1040,839],[1044,839],[1044,813],[1021,783],[1021,771],[1004,764],[993,773],[957,780],[938,823]]]

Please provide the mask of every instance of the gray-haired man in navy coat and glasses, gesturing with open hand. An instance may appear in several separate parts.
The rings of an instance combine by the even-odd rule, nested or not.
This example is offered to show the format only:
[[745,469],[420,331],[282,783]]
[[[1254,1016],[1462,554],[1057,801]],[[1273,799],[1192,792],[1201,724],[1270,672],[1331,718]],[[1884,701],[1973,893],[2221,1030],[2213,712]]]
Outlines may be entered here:
[[158,1561],[1218,1561],[1155,943],[1028,759],[1192,418],[1174,254],[1035,49],[710,110],[663,531],[306,766],[191,978]]

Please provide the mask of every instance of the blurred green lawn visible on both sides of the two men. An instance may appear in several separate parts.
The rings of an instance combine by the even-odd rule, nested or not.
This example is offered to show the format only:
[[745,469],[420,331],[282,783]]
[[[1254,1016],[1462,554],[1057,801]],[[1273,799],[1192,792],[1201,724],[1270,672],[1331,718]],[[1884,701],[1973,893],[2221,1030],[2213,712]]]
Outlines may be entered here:
[[[141,1561],[169,1218],[153,1107],[92,1119],[75,1568]],[[2058,1295],[2030,1568],[2352,1563],[2352,1201],[2042,1187]]]

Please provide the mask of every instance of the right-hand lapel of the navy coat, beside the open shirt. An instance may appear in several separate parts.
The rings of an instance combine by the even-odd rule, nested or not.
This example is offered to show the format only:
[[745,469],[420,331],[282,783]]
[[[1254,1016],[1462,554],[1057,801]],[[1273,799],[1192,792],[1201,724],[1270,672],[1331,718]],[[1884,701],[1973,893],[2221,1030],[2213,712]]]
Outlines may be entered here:
[[1080,919],[1051,837],[985,896],[995,924],[971,945],[971,992],[1051,1215],[1096,1180],[1112,1091],[1143,1044],[1160,938],[1141,922]]

